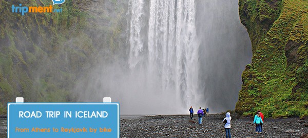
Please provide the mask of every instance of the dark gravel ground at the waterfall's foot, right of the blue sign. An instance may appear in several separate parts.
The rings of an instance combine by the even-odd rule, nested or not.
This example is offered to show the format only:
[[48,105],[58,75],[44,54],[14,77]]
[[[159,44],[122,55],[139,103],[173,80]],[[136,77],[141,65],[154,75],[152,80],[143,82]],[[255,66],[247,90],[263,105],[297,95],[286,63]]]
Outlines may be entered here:
[[[145,116],[121,119],[120,137],[225,137],[222,114],[209,114],[199,125],[198,116]],[[196,123],[194,123],[196,122]],[[299,118],[265,119],[263,133],[255,133],[253,118],[231,121],[232,137],[300,137],[308,133],[308,121]]]

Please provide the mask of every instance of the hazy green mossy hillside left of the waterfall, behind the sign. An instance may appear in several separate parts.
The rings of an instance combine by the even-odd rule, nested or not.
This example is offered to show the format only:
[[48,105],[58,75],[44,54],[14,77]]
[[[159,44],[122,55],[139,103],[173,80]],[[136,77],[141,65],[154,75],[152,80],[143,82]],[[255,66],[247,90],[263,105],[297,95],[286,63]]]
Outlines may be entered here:
[[53,5],[62,13],[24,16],[12,13],[12,5],[19,4],[49,6],[52,1],[0,0],[0,114],[16,97],[26,102],[74,101],[76,80],[97,58],[114,58],[100,51],[114,53],[123,44],[119,36],[125,5],[117,1],[67,0]]

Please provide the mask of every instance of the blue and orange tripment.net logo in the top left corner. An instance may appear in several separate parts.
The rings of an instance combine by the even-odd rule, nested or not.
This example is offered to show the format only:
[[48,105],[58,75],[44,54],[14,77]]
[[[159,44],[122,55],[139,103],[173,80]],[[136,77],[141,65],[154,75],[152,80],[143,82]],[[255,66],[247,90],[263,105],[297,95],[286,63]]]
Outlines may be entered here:
[[[55,4],[63,4],[65,0],[52,0],[52,5]],[[53,9],[52,5],[42,7],[42,6],[36,6],[36,7],[28,7],[28,6],[22,6],[22,4],[19,4],[19,6],[12,5],[12,12],[13,13],[22,13],[22,15],[25,15],[25,13],[42,13],[42,12],[62,12],[61,9]]]

